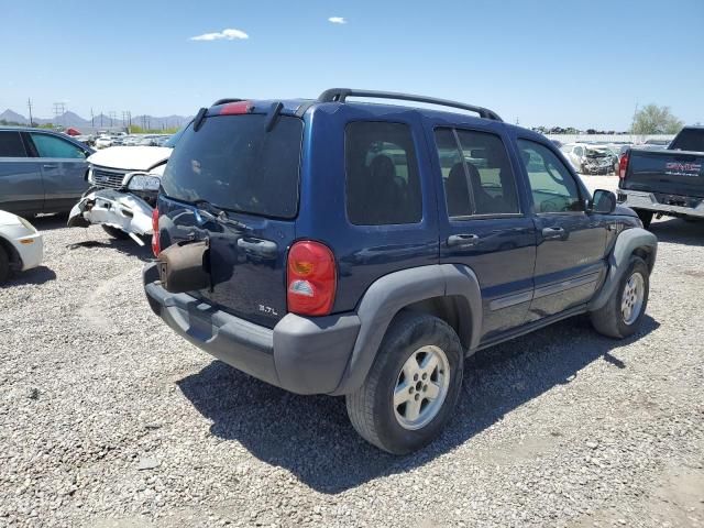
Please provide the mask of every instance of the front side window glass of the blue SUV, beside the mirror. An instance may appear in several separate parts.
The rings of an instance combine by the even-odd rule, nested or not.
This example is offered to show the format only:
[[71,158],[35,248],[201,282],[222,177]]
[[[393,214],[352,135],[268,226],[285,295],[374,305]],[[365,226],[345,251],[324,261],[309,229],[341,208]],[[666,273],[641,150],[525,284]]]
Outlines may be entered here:
[[576,182],[552,151],[526,140],[518,140],[518,148],[528,173],[537,213],[584,210]]

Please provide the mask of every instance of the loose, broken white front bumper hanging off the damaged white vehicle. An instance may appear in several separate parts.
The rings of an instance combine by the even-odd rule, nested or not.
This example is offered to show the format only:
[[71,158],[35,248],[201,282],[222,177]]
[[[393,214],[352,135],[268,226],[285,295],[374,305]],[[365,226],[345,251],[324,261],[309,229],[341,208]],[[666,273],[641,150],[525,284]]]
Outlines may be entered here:
[[95,190],[84,196],[68,216],[69,227],[105,224],[121,229],[136,243],[138,235],[152,234],[152,206],[140,197],[112,189]]

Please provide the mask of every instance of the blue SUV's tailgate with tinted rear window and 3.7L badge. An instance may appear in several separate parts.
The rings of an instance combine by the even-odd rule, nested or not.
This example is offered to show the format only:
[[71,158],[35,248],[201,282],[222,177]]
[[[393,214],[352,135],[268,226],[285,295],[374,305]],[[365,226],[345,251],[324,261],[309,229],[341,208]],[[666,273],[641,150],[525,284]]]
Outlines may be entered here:
[[304,122],[266,123],[264,114],[213,114],[188,127],[164,170],[158,211],[162,249],[210,241],[212,288],[191,295],[273,328],[286,315]]

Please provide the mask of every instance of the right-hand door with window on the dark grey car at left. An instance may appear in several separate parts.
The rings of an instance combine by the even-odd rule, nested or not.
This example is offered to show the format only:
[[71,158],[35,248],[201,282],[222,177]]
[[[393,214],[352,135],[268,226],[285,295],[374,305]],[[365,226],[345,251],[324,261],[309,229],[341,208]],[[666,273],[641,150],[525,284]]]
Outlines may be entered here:
[[54,134],[30,132],[29,136],[42,167],[44,212],[70,210],[88,188],[89,151]]

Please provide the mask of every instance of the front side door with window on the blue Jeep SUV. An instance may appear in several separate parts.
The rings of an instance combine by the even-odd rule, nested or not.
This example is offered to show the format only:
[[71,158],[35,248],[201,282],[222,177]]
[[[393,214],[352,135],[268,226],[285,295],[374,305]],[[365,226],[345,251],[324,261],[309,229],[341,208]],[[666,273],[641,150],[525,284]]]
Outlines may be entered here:
[[547,145],[518,140],[528,175],[538,237],[535,293],[528,315],[535,321],[586,302],[606,262],[606,223],[585,211],[576,177]]

